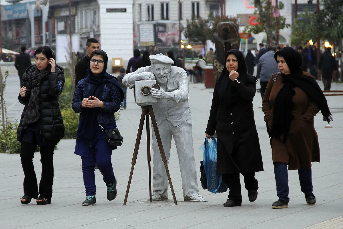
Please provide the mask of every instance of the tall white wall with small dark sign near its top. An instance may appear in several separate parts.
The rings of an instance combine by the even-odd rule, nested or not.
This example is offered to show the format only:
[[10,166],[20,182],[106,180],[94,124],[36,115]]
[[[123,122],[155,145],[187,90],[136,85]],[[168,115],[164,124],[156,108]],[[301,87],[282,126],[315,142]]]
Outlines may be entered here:
[[[108,72],[112,58],[122,57],[124,68],[133,57],[133,0],[98,0],[100,7],[100,44],[108,55]],[[126,13],[106,13],[107,8],[126,8]]]

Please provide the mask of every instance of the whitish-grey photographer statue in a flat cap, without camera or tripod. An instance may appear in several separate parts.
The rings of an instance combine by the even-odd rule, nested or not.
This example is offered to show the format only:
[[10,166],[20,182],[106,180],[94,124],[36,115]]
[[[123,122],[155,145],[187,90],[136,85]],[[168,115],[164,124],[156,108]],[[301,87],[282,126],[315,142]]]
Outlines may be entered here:
[[[123,84],[133,88],[135,81],[156,80],[161,89],[151,88],[151,95],[157,98],[157,104],[152,105],[156,122],[161,135],[167,163],[170,157],[171,137],[175,140],[180,163],[182,190],[185,201],[205,201],[198,194],[197,170],[194,160],[192,120],[188,104],[187,73],[180,67],[171,66],[174,63],[169,57],[158,54],[150,55],[151,66],[142,67],[135,72],[126,74]],[[152,127],[153,128],[153,127]],[[153,133],[153,200],[168,198],[168,178],[161,159],[154,131]]]

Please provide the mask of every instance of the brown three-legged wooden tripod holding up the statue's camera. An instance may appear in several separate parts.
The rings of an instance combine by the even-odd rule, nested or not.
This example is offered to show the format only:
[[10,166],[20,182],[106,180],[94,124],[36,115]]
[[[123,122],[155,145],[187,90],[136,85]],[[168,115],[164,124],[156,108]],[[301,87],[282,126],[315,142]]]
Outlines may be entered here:
[[151,199],[151,156],[150,156],[150,125],[149,125],[149,115],[151,117],[151,122],[152,122],[152,125],[154,127],[154,131],[155,131],[155,135],[156,135],[156,139],[157,139],[157,144],[158,144],[159,152],[161,153],[162,161],[164,163],[164,167],[165,167],[166,172],[167,172],[169,186],[170,186],[170,189],[171,189],[171,194],[173,195],[173,199],[174,199],[174,204],[177,204],[175,193],[174,193],[173,184],[171,183],[170,174],[169,174],[169,170],[168,170],[166,154],[164,153],[164,149],[163,149],[163,146],[162,146],[161,136],[159,135],[159,131],[158,131],[158,128],[157,128],[157,123],[156,123],[156,118],[155,118],[155,115],[154,115],[154,111],[152,109],[152,106],[150,105],[150,106],[143,106],[141,120],[139,122],[139,127],[138,127],[136,144],[135,144],[134,150],[133,150],[133,157],[132,157],[132,162],[131,162],[132,165],[131,165],[131,172],[130,172],[130,176],[129,176],[129,182],[128,182],[128,186],[126,188],[126,194],[125,194],[125,199],[124,199],[124,204],[123,205],[126,205],[126,202],[127,202],[127,199],[128,199],[128,195],[129,195],[129,190],[130,190],[130,185],[131,185],[131,180],[132,180],[133,169],[134,169],[134,165],[136,164],[136,161],[137,161],[138,149],[139,149],[139,145],[140,145],[141,137],[142,137],[142,132],[143,132],[144,116],[146,117],[146,144],[147,144],[147,160],[148,160],[148,167],[149,167],[149,197],[150,197],[150,202],[152,202],[152,199]]

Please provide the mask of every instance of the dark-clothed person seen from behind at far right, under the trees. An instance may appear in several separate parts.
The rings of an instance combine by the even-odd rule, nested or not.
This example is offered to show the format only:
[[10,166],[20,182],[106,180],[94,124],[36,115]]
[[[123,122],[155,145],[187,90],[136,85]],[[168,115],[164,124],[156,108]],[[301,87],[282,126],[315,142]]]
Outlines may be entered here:
[[330,91],[332,72],[337,70],[335,58],[331,54],[331,48],[328,47],[321,55],[319,60],[319,69],[322,73],[322,81],[324,84],[324,91]]

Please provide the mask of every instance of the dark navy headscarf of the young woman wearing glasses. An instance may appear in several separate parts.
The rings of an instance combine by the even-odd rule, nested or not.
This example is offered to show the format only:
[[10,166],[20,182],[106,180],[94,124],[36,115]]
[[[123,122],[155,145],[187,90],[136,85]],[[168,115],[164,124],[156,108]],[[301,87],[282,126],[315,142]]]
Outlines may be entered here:
[[[87,95],[87,98],[89,96],[94,96],[98,98],[99,100],[101,99],[101,96],[104,91],[104,84],[105,83],[113,83],[118,90],[120,91],[120,102],[123,101],[124,99],[124,92],[121,89],[120,83],[118,82],[117,78],[108,74],[106,72],[107,69],[107,61],[108,57],[105,51],[103,50],[95,50],[91,54],[90,60],[94,55],[100,55],[104,59],[104,70],[100,73],[100,75],[95,76],[93,72],[91,71],[91,62],[88,62],[88,72],[89,75],[85,78],[86,82],[91,83],[91,89]],[[93,98],[91,98],[93,100]],[[98,121],[97,117],[100,112],[100,107],[95,107],[95,108],[88,108],[85,107],[82,113],[85,113],[85,115],[82,115],[79,121],[79,127],[78,127],[78,133],[87,138],[87,139],[92,139],[94,137]]]

